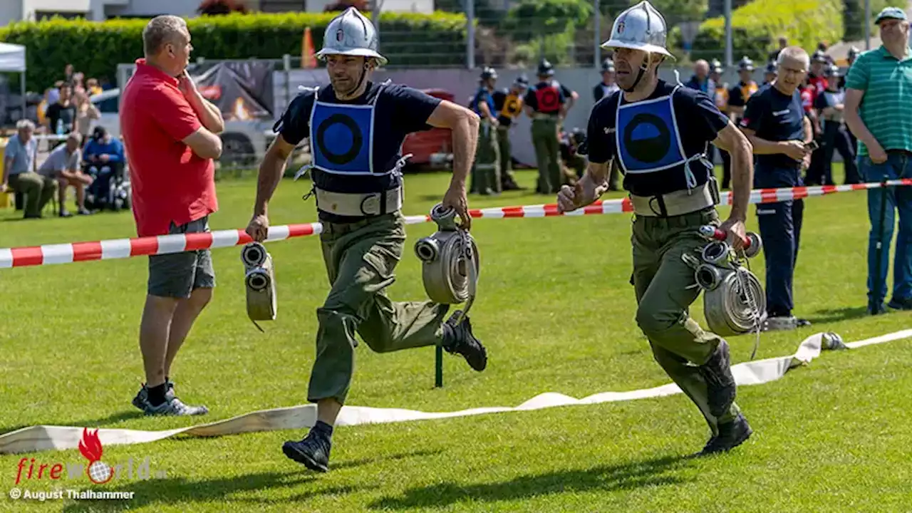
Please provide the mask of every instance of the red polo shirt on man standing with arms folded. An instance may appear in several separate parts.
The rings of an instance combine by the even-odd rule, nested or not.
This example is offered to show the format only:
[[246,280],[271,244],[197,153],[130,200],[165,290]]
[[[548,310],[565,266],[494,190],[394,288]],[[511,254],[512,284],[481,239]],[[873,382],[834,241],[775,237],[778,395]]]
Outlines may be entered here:
[[218,210],[214,162],[181,142],[202,123],[177,84],[140,58],[121,93],[120,133],[139,236],[167,235],[171,222],[183,225]]

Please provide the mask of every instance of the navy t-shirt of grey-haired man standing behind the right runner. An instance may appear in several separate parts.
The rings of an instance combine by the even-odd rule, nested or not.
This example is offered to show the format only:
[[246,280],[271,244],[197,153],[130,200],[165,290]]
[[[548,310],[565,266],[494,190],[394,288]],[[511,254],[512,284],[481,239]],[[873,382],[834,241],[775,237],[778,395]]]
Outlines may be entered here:
[[[754,131],[754,135],[767,141],[803,141],[804,140],[804,108],[802,106],[801,91],[795,89],[792,96],[783,94],[772,87],[763,86],[747,101],[744,108],[744,117],[739,123],[742,128]],[[794,160],[784,153],[772,155],[756,155],[757,167],[760,170],[754,173],[755,187],[792,187],[798,185],[797,178],[792,173],[782,176],[772,184],[762,173],[764,167],[782,168],[797,171],[801,162]]]

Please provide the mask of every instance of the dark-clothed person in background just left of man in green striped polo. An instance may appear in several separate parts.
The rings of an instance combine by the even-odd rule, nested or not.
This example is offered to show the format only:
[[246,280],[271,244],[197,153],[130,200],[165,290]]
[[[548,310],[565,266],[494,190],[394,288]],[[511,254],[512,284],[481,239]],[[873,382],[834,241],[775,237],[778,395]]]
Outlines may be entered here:
[[[824,75],[827,78],[826,89],[814,100],[814,109],[824,129],[821,149],[824,152],[823,176],[814,177],[815,183],[833,185],[833,155],[838,151],[845,165],[845,183],[859,183],[858,169],[855,167],[855,147],[849,139],[843,123],[845,108],[845,89],[839,89],[839,68],[830,65]],[[808,172],[810,174],[810,171]]]

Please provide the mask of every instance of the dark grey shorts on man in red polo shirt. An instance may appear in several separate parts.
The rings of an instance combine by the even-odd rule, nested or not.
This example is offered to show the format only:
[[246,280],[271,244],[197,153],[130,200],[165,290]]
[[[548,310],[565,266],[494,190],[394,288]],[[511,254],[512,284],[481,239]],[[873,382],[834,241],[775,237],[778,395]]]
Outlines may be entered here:
[[[172,234],[198,234],[209,231],[209,217],[202,217],[186,225],[174,225]],[[161,298],[190,298],[197,288],[215,287],[215,269],[209,249],[183,251],[149,257],[149,294]]]

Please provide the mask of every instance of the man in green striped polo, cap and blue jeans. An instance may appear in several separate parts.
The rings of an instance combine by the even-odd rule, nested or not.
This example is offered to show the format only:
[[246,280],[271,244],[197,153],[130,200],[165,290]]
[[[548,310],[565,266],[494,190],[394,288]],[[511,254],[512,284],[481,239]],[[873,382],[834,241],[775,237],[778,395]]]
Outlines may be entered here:
[[[858,56],[849,69],[843,114],[860,142],[858,160],[865,182],[912,178],[909,22],[903,9],[886,7],[875,24],[883,43]],[[893,298],[886,306],[912,309],[912,187],[868,189],[867,311],[872,315],[886,312],[886,275],[897,211]]]

